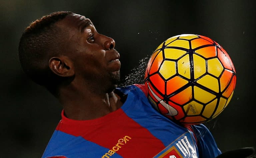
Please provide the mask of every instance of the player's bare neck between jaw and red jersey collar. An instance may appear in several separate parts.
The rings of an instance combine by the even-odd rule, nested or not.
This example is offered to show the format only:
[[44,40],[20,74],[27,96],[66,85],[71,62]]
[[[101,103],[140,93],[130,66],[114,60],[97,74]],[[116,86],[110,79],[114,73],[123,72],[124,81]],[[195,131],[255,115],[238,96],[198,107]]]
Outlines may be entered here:
[[88,120],[103,117],[122,106],[120,97],[113,91],[99,93],[90,88],[68,86],[60,89],[58,99],[70,119]]

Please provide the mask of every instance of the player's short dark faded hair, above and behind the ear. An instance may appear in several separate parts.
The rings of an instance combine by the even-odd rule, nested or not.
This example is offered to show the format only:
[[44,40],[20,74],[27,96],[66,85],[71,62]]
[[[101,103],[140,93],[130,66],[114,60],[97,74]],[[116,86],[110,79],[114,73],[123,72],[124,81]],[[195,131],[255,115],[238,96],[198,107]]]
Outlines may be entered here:
[[19,42],[19,59],[23,71],[47,89],[58,78],[48,66],[49,59],[60,53],[65,36],[63,30],[54,24],[69,14],[72,12],[60,11],[37,19],[25,29]]

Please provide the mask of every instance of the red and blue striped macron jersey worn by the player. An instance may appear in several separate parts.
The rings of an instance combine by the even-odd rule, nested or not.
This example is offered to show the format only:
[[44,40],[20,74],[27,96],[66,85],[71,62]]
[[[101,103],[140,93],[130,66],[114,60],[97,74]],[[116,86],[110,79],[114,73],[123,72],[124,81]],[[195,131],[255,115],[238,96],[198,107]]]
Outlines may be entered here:
[[62,111],[43,158],[212,158],[220,154],[204,125],[186,128],[174,123],[151,106],[143,86],[139,87],[117,88],[127,94],[123,106],[98,119],[68,119]]

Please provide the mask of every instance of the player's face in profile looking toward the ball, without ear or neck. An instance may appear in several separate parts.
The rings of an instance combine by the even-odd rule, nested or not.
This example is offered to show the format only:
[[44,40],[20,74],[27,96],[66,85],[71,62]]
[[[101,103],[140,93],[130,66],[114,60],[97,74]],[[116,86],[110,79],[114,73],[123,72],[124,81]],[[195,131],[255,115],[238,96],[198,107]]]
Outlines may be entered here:
[[68,15],[57,25],[68,34],[64,51],[73,61],[76,77],[98,86],[117,85],[121,64],[114,39],[99,34],[90,19],[78,14]]

